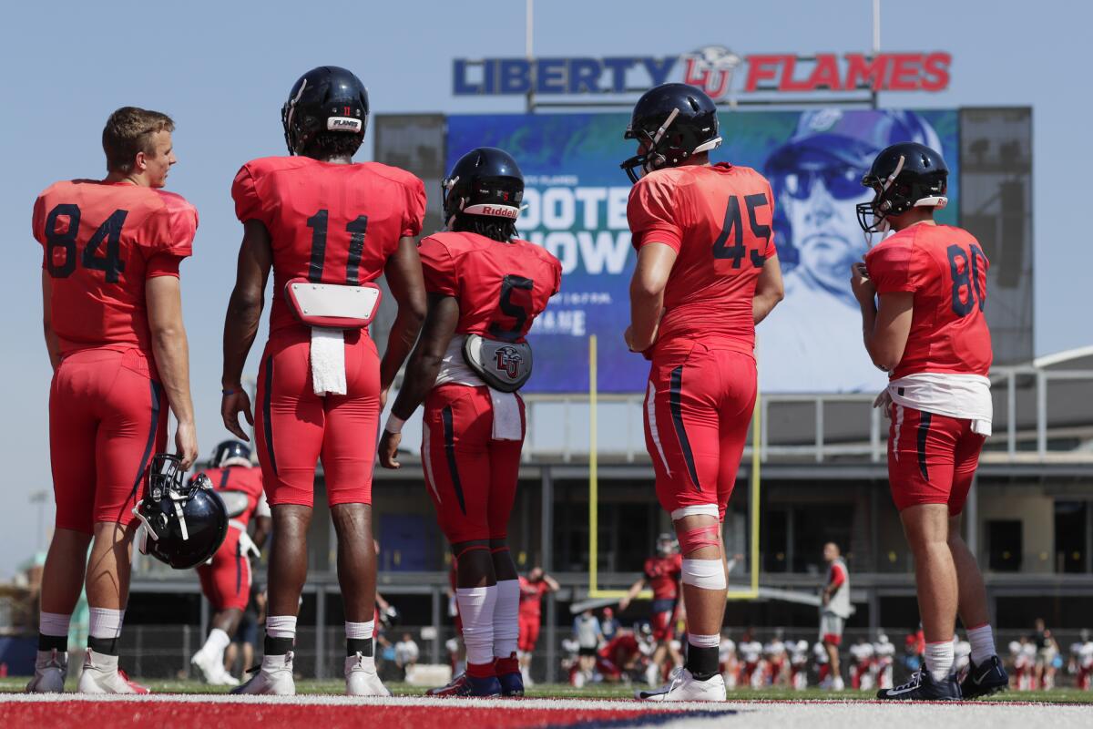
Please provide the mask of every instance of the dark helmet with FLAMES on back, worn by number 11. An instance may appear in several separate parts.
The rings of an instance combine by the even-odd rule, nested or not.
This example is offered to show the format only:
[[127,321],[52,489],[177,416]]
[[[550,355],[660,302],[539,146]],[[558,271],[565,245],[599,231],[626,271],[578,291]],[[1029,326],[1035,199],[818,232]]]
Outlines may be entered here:
[[293,84],[281,107],[289,154],[299,154],[320,131],[360,134],[368,127],[368,91],[338,66],[312,69]]

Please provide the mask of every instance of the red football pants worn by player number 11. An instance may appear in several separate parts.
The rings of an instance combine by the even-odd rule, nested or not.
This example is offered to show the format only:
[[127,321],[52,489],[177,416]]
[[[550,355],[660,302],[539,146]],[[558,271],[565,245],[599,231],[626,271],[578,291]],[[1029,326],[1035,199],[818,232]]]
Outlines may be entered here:
[[379,356],[367,331],[345,331],[345,395],[315,395],[312,332],[273,332],[258,375],[255,439],[271,506],[312,506],[321,458],[327,502],[372,503],[379,426]]

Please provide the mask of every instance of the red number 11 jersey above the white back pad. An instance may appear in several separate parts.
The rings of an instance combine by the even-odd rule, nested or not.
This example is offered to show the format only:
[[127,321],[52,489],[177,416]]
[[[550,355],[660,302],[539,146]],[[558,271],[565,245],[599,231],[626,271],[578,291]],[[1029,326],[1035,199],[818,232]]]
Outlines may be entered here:
[[292,279],[360,285],[379,278],[399,238],[421,233],[424,184],[376,162],[262,157],[232,184],[235,214],[266,225],[273,244],[270,331],[299,320],[284,299]]

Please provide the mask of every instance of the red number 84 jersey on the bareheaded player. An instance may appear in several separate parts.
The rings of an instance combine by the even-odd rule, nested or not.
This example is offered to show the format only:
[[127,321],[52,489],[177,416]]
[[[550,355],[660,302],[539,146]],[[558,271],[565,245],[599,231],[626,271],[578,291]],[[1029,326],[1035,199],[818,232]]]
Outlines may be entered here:
[[151,357],[144,283],[178,275],[198,211],[179,195],[129,183],[66,180],[34,203],[61,354],[139,348]]

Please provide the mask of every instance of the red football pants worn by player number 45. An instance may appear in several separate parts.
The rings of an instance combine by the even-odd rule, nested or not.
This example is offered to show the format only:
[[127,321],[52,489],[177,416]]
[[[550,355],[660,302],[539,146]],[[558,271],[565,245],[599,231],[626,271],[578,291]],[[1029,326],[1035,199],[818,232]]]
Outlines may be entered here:
[[755,407],[755,360],[716,346],[654,356],[645,443],[666,512],[716,506],[724,520]]

